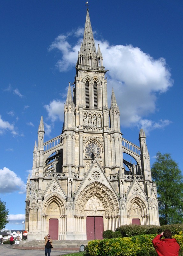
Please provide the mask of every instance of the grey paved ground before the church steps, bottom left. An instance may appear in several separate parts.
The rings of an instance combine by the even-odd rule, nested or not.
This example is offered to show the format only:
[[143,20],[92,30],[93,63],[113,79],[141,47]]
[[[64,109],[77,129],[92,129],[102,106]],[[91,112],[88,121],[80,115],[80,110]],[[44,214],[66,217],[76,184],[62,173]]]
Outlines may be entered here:
[[[44,248],[30,248],[25,247],[24,249],[14,249],[13,245],[10,244],[0,244],[0,253],[3,256],[45,256]],[[60,256],[68,253],[79,252],[78,248],[76,250],[58,250],[52,249],[51,256]]]

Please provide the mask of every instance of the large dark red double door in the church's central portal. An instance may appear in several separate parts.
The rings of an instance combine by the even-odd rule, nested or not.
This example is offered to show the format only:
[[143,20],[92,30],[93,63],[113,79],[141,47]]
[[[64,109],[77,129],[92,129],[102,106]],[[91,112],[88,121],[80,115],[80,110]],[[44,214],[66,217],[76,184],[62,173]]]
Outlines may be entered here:
[[86,217],[86,239],[103,239],[104,232],[103,217]]

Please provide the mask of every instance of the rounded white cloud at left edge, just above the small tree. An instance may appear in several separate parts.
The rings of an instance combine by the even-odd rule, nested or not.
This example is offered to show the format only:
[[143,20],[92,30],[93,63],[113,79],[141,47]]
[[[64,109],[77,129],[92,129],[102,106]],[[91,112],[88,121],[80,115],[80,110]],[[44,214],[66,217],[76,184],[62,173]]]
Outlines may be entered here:
[[17,174],[10,169],[4,167],[0,169],[0,193],[12,193],[19,191],[19,194],[26,192],[26,184]]

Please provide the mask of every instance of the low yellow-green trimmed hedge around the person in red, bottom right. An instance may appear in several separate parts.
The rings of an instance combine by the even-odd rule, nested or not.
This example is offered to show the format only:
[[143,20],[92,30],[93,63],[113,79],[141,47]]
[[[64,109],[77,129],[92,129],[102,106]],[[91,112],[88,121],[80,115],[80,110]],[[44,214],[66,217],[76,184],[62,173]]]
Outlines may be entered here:
[[[155,256],[152,239],[156,234],[122,237],[88,242],[90,256]],[[183,235],[173,236],[180,245],[179,256],[183,252]]]

